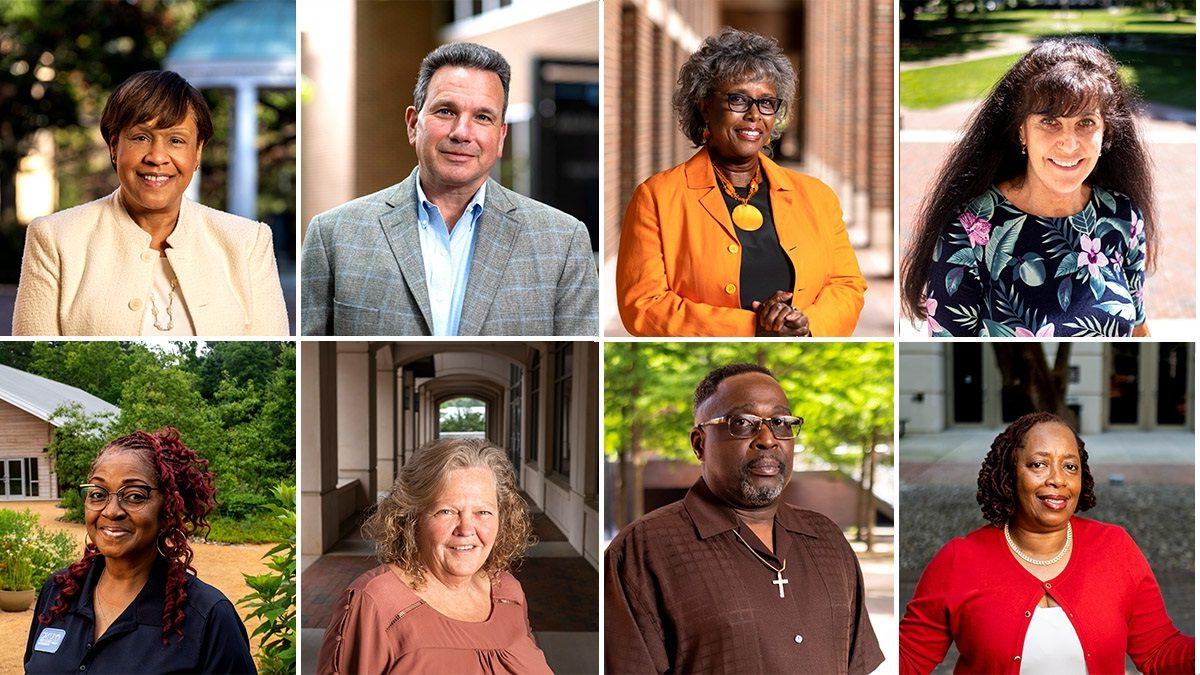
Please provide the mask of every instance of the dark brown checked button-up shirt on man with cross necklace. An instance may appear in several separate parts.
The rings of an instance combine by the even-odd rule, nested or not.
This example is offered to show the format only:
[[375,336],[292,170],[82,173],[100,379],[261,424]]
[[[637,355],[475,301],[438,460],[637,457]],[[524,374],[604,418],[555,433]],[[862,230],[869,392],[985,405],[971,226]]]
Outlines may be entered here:
[[[782,586],[774,567],[787,561]],[[704,484],[605,551],[606,673],[870,673],[863,573],[828,518],[782,503],[770,552]]]

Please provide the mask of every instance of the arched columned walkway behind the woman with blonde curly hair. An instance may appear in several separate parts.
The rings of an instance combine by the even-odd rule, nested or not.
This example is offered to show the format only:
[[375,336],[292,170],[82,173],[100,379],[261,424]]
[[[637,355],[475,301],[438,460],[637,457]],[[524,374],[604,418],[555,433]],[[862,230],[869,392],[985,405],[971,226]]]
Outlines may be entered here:
[[346,587],[379,565],[364,515],[424,443],[474,436],[508,452],[533,516],[538,543],[512,573],[538,645],[556,673],[596,673],[600,345],[307,341],[300,354],[301,671]]

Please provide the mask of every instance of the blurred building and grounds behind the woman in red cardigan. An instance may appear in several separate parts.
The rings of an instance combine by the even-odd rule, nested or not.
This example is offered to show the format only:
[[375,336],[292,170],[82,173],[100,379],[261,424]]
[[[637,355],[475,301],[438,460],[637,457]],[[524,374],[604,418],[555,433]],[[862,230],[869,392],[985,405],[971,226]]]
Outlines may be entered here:
[[901,342],[899,368],[901,616],[934,554],[984,525],[976,490],[992,440],[1044,410],[1087,446],[1097,506],[1081,515],[1129,531],[1194,634],[1193,342]]

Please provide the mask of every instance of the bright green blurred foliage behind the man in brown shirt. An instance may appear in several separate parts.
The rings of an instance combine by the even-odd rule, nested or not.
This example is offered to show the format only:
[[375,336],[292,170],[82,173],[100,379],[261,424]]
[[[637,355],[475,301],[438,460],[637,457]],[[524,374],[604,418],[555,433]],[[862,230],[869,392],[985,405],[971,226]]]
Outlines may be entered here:
[[764,365],[779,378],[793,413],[805,420],[797,448],[851,468],[872,430],[892,437],[888,342],[608,342],[605,455],[695,461],[688,444],[692,390],[710,370],[736,362]]

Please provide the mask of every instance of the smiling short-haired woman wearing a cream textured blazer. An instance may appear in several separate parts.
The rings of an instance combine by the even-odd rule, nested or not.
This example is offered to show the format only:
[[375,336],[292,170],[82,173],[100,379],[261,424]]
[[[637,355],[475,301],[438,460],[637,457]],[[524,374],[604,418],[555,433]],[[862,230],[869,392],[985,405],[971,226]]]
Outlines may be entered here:
[[30,223],[13,335],[287,335],[270,229],[184,197],[212,137],[199,91],[138,73],[101,132],[120,187]]

